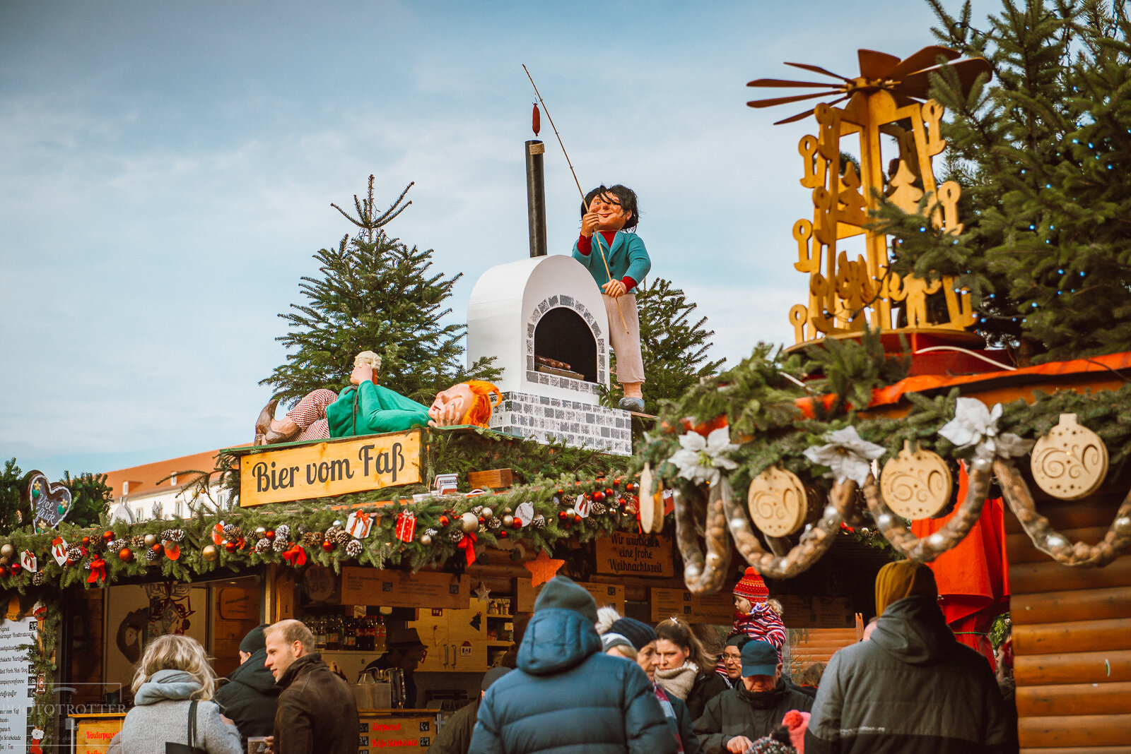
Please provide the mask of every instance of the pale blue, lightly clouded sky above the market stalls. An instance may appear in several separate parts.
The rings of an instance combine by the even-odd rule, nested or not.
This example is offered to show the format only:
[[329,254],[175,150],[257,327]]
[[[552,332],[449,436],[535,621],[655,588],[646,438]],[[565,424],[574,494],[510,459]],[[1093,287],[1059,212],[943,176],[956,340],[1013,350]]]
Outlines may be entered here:
[[[811,128],[772,126],[794,111],[746,107],[745,84],[809,78],[785,60],[854,76],[857,47],[905,56],[933,20],[917,0],[0,0],[0,459],[54,479],[250,440],[277,315],[371,173],[379,201],[416,182],[389,230],[464,273],[463,321],[478,275],[528,253],[523,63],[581,183],[639,193],[653,274],[714,354],[792,342]],[[577,190],[543,125],[568,253]]]

